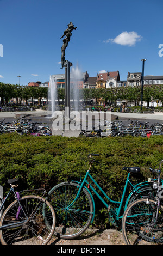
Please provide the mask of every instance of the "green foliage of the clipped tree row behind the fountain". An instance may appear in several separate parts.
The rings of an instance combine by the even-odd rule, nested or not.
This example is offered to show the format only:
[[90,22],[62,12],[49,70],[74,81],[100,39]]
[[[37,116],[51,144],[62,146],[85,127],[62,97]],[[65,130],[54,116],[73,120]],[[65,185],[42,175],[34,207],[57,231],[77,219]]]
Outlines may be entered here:
[[[57,89],[58,92],[58,102],[59,99],[64,101],[65,90]],[[71,91],[73,95],[73,91]],[[42,98],[48,97],[48,88],[42,87],[28,87],[28,86],[18,86],[14,84],[4,84],[0,83],[0,97],[2,105],[8,102],[11,98],[16,98],[17,103],[22,102],[22,99],[27,100],[32,98],[39,99],[41,103]],[[121,88],[98,88],[98,89],[79,89],[79,100],[84,100],[86,102],[91,99],[102,99],[105,101],[117,102],[118,99],[126,101],[135,101],[135,106],[139,104],[141,98],[141,87],[121,87]],[[19,100],[19,101],[18,101]],[[152,85],[143,87],[143,101],[146,101],[149,105],[151,100],[160,100],[163,102],[163,85]]]

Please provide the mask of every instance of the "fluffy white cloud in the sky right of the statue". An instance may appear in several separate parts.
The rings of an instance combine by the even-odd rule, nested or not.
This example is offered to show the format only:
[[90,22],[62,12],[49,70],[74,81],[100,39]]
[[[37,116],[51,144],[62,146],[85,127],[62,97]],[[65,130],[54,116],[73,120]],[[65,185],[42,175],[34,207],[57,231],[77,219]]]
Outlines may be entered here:
[[103,42],[114,42],[115,44],[124,45],[124,46],[134,46],[136,42],[141,41],[142,36],[138,35],[137,32],[122,32],[120,35],[117,35],[115,39],[104,40]]

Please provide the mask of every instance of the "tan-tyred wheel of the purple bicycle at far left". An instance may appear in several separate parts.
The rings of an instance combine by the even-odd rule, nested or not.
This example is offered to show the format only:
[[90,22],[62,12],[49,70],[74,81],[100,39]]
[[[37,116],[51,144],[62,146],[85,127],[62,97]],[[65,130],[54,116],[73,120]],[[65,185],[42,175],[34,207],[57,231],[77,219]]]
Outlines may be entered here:
[[46,245],[55,229],[55,212],[46,199],[25,196],[4,211],[0,225],[12,224],[0,231],[2,245]]

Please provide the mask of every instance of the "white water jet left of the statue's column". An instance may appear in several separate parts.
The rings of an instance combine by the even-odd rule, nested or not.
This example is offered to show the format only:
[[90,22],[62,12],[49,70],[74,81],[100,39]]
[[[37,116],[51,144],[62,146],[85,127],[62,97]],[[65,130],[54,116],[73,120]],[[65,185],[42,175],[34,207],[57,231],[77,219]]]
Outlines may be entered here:
[[50,76],[50,80],[49,80],[48,100],[51,102],[52,117],[54,117],[55,100],[57,100],[57,88],[56,88],[56,81],[52,79],[52,76]]

